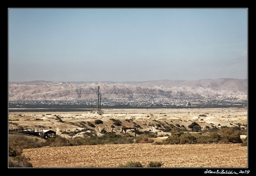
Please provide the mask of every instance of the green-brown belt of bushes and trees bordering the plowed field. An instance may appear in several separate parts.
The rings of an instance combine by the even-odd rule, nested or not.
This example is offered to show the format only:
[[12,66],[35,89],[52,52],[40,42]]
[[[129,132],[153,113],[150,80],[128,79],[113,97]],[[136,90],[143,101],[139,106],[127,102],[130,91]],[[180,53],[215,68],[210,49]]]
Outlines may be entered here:
[[[118,121],[115,121],[118,123]],[[103,123],[101,120],[95,121],[95,124]],[[193,122],[188,126],[192,132],[198,132],[201,130],[201,126],[196,122]],[[85,131],[85,130],[82,130]],[[79,132],[81,132],[79,130]],[[195,143],[242,143],[247,145],[247,138],[244,141],[241,140],[240,135],[242,130],[240,126],[222,128],[211,128],[204,130],[202,134],[189,133],[182,131],[182,128],[173,126],[169,128],[171,136],[162,142],[154,142],[152,138],[157,137],[155,133],[143,132],[138,137],[134,135],[121,135],[107,132],[103,129],[101,131],[103,136],[96,136],[93,134],[87,134],[89,137],[77,137],[73,139],[63,138],[58,136],[56,138],[50,138],[48,140],[39,140],[38,138],[27,138],[23,134],[9,135],[9,167],[32,167],[29,163],[29,159],[22,155],[22,149],[36,148],[36,147],[62,147],[62,146],[75,146],[75,145],[98,145],[98,144],[124,144],[124,143],[153,143],[158,145],[164,144],[195,144]],[[88,132],[86,132],[88,133]],[[134,163],[129,163],[134,164]],[[136,163],[138,164],[138,163]],[[152,163],[151,163],[152,164]],[[155,164],[155,163],[154,163]],[[159,163],[158,163],[159,164]]]

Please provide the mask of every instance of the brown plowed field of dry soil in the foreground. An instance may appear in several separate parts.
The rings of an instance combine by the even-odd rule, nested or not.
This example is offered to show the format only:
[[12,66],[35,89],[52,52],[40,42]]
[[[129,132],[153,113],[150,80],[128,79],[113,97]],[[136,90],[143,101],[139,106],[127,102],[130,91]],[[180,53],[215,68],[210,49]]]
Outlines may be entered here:
[[33,167],[118,167],[129,161],[162,167],[247,167],[247,147],[240,144],[84,145],[24,149]]

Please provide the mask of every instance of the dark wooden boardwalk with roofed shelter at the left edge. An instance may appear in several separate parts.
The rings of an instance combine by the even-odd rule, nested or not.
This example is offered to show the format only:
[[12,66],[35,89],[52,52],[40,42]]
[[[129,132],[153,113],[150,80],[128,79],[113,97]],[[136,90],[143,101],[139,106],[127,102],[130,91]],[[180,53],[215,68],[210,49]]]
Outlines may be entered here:
[[35,130],[35,129],[26,129],[26,130],[19,130],[19,129],[9,129],[9,133],[23,133],[23,134],[29,134],[32,136],[38,136],[40,138],[49,139],[52,137],[57,137],[55,131],[52,130]]

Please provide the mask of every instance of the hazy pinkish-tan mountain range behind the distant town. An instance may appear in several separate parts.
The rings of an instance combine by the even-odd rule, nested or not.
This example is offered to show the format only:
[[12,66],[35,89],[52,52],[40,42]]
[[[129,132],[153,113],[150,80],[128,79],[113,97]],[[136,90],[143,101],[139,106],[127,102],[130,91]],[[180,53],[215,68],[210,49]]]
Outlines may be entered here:
[[143,82],[9,82],[9,100],[102,98],[237,98],[247,99],[247,79],[157,80]]

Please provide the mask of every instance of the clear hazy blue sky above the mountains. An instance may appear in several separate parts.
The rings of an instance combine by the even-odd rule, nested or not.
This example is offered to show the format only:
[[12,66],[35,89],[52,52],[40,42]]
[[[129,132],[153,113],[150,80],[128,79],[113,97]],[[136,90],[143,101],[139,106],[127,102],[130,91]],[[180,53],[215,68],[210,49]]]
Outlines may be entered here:
[[247,78],[247,9],[9,9],[9,81]]

